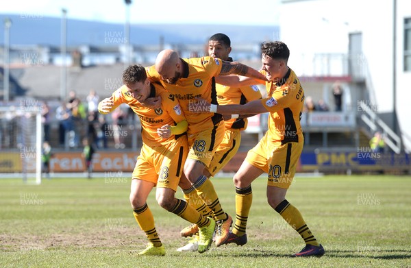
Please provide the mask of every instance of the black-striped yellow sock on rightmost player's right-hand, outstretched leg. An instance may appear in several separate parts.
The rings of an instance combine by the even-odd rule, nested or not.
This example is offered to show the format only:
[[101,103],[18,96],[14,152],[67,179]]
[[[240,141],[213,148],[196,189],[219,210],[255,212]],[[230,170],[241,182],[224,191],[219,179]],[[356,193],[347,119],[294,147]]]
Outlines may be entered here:
[[284,199],[283,202],[279,203],[275,208],[275,211],[279,213],[286,220],[292,228],[294,228],[299,235],[304,239],[306,244],[319,246],[320,244],[316,241],[314,235],[312,235],[310,228],[308,228],[306,221],[304,221],[303,216],[295,206],[288,203]]

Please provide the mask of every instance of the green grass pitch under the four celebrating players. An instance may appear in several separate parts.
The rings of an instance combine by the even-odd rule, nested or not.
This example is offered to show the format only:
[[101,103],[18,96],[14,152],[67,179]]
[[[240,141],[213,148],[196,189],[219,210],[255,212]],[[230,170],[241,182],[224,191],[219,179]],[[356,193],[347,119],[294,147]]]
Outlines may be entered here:
[[[289,257],[303,242],[266,203],[264,178],[253,183],[247,245],[176,252],[187,223],[150,195],[167,254],[136,256],[147,242],[132,215],[129,182],[0,180],[0,267],[411,267],[410,176],[296,178],[287,199],[325,247],[322,258]],[[232,180],[212,182],[234,216]]]

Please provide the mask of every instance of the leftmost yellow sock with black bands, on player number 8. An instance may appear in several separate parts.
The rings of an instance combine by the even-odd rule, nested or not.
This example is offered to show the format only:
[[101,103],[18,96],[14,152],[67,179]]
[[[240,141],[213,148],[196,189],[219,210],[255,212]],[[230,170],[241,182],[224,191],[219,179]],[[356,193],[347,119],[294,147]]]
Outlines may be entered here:
[[160,247],[162,243],[158,237],[157,231],[155,230],[154,217],[149,206],[147,206],[147,203],[140,208],[134,209],[133,215],[134,218],[136,218],[140,229],[145,232],[149,242],[153,243],[155,247]]

